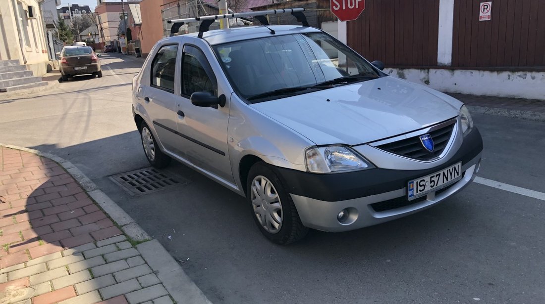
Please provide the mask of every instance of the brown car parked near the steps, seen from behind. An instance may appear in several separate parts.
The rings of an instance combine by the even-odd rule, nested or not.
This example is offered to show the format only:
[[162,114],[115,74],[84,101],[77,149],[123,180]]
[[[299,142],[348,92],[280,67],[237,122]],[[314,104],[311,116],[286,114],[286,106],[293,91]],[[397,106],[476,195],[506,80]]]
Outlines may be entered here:
[[92,74],[102,77],[100,60],[89,46],[65,46],[60,56],[60,75],[63,81],[76,75]]

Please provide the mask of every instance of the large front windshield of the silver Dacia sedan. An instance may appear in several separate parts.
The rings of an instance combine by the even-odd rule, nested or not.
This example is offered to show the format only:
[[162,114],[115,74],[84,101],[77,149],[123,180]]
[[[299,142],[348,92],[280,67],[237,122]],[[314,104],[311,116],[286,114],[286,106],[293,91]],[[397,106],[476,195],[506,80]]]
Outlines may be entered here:
[[367,61],[324,33],[229,42],[214,51],[235,90],[251,102],[379,77]]

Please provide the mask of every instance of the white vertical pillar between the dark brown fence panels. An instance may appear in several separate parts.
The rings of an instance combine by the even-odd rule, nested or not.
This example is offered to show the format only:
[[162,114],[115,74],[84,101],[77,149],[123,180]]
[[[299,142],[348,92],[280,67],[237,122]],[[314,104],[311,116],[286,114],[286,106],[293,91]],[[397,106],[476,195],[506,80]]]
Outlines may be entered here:
[[439,37],[437,41],[437,64],[452,63],[452,29],[454,26],[454,0],[439,1]]

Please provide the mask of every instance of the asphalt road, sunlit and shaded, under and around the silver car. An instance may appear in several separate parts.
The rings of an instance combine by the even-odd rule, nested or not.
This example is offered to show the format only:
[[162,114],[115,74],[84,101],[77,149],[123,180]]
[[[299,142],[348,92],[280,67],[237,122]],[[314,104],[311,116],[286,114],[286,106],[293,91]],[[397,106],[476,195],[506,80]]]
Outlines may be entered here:
[[[545,302],[545,201],[482,184],[400,220],[313,231],[290,246],[262,237],[244,198],[180,164],[166,170],[177,187],[129,195],[108,176],[148,166],[130,113],[141,63],[101,60],[103,78],[0,101],[0,142],[80,167],[177,260],[189,258],[182,267],[211,301]],[[479,176],[544,193],[545,123],[473,117],[485,142]]]

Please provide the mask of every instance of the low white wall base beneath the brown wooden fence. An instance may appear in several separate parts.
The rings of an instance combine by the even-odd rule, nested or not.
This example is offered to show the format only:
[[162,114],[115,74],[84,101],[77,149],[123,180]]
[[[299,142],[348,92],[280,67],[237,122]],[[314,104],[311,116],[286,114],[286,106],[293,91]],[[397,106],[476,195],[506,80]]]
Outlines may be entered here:
[[545,100],[545,72],[392,68],[384,72],[442,92]]

